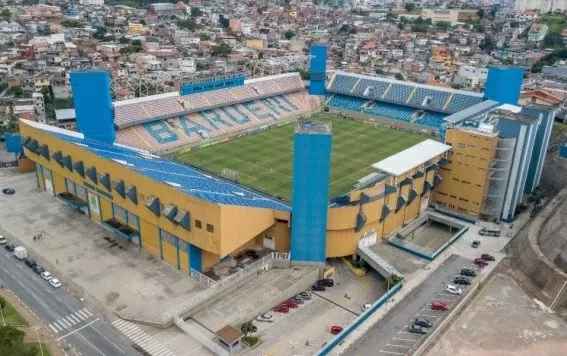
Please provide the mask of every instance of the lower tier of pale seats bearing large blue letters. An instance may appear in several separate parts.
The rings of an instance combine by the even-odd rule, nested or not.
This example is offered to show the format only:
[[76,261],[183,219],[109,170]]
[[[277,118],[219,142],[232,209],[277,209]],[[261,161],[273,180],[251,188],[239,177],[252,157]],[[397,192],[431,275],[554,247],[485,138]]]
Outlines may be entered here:
[[128,127],[117,132],[116,142],[162,152],[311,112],[309,95],[299,91]]

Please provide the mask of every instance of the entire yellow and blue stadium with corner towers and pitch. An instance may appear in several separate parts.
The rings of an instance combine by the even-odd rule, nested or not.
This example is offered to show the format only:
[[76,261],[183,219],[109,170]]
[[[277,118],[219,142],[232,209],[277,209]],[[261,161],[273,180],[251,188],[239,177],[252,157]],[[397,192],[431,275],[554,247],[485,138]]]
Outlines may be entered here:
[[[184,273],[251,246],[324,265],[427,209],[512,221],[539,184],[554,112],[517,106],[523,72],[485,93],[325,70],[185,83],[112,102],[71,76],[79,132],[22,120],[38,186]],[[466,188],[466,189],[464,189]]]

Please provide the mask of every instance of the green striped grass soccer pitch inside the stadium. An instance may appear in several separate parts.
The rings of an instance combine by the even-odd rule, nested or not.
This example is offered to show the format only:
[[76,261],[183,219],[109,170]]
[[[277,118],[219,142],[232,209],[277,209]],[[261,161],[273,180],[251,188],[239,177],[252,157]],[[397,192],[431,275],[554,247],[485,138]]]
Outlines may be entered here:
[[[373,163],[427,139],[332,114],[311,119],[332,124],[331,198],[351,190],[358,179],[373,171]],[[227,170],[238,172],[239,184],[291,200],[294,130],[295,123],[289,123],[171,157],[222,177]]]

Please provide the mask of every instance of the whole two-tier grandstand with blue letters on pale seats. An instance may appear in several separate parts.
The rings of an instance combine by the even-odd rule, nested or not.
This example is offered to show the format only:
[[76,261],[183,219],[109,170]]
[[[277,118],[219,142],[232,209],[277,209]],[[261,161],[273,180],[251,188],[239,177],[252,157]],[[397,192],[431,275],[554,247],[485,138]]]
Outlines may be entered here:
[[311,115],[318,107],[320,102],[307,95],[297,73],[282,74],[203,93],[168,93],[116,102],[116,140],[167,153]]

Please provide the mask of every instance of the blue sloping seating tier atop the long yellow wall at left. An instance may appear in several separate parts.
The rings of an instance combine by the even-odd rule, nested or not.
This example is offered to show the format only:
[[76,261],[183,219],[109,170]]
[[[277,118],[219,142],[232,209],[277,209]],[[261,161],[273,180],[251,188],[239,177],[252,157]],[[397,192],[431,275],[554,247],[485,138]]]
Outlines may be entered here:
[[[250,206],[290,211],[291,207],[263,194],[245,189],[237,184],[212,177],[199,170],[183,166],[147,151],[87,139],[83,134],[22,120],[24,123],[58,137],[61,140],[83,147],[104,159],[121,164],[143,174],[156,182],[167,184],[195,198],[213,204]],[[78,159],[78,157],[73,157]],[[112,172],[107,172],[112,176]]]

